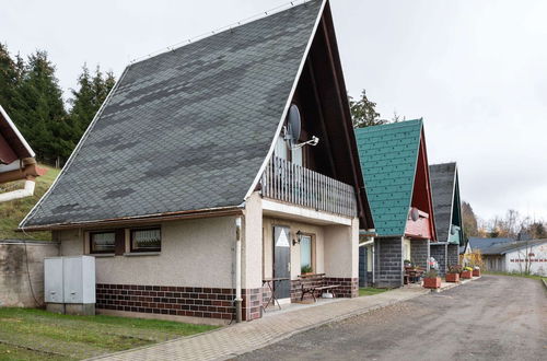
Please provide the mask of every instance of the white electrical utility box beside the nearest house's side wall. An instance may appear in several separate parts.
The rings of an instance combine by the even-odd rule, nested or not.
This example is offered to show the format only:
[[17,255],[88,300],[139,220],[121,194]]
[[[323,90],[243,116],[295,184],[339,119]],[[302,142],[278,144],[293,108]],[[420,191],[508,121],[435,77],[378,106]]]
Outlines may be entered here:
[[95,314],[95,257],[44,259],[46,308],[75,315]]

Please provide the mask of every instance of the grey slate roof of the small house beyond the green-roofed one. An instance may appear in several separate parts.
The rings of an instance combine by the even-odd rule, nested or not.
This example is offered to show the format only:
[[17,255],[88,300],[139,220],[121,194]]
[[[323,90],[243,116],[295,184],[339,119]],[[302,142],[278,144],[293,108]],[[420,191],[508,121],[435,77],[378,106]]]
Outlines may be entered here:
[[429,179],[433,197],[433,211],[435,213],[437,237],[440,242],[446,242],[449,241],[452,223],[452,209],[456,186],[456,163],[430,165]]

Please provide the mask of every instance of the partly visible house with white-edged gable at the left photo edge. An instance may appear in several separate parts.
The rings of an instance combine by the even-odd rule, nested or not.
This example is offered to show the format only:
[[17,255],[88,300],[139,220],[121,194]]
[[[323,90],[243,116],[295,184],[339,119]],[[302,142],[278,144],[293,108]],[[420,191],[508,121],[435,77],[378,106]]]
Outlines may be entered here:
[[13,187],[0,193],[0,202],[34,194],[35,178],[45,173],[37,166],[35,156],[31,145],[0,105],[0,185],[24,180],[22,188],[13,184]]

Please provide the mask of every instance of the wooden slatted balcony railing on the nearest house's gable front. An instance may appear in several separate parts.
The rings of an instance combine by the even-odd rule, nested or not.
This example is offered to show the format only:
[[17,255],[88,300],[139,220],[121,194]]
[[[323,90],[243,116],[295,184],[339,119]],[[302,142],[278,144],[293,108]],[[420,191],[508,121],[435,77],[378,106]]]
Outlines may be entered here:
[[263,197],[347,217],[357,216],[352,186],[281,158],[271,158],[260,183]]

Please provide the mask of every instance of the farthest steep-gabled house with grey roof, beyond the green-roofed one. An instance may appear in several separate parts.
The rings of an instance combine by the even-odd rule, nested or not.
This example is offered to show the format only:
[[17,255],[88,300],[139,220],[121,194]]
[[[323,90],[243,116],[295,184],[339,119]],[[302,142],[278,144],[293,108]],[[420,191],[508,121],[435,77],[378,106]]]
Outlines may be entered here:
[[456,163],[429,166],[437,238],[431,243],[431,257],[439,263],[439,273],[444,276],[450,266],[459,263],[459,246],[464,246],[462,201]]

